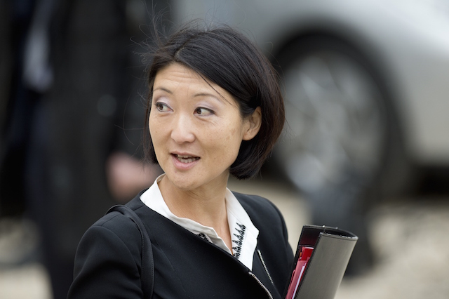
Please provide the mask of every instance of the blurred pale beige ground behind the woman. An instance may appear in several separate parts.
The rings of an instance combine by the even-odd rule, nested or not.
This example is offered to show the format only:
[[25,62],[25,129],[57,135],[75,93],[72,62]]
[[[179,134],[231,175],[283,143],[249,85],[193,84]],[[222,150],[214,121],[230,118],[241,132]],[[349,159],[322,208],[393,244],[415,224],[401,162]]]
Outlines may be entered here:
[[[290,186],[232,180],[229,187],[274,201],[295,248],[308,213]],[[335,299],[449,298],[449,198],[382,204],[370,215],[370,236],[377,265],[361,277],[344,279]],[[0,269],[0,299],[51,299],[48,287],[39,264]]]

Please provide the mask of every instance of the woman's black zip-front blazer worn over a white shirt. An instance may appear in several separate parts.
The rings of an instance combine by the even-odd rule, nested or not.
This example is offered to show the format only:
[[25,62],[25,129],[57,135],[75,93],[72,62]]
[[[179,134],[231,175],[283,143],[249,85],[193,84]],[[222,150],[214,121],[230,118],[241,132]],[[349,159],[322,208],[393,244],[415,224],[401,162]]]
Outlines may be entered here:
[[[226,251],[152,211],[140,194],[127,205],[145,223],[152,241],[153,298],[270,298],[265,288],[272,298],[281,298],[293,251],[283,217],[270,201],[234,193],[260,231],[257,249],[267,270],[256,252],[250,271]],[[113,212],[95,222],[76,252],[68,298],[142,298],[140,246],[140,233],[125,215]]]

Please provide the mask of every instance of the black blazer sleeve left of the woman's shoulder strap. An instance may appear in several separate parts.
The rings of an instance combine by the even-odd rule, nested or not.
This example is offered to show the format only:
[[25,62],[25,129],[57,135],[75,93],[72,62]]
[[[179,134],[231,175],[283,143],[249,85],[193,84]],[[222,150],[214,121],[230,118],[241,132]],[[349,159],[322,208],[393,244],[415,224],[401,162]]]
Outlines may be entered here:
[[[81,239],[68,299],[142,298],[140,240],[123,241],[109,228],[94,225]],[[127,246],[128,245],[128,246]],[[135,246],[134,246],[135,245]]]

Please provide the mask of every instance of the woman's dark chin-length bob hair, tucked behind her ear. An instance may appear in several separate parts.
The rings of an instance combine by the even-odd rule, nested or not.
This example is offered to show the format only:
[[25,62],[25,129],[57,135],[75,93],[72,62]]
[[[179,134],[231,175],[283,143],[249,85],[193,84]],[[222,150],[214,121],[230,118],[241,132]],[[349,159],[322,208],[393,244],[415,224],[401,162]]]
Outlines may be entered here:
[[242,141],[230,168],[230,173],[239,179],[257,175],[281,135],[285,121],[278,76],[270,62],[249,39],[227,26],[204,29],[188,25],[159,44],[152,53],[152,65],[147,73],[145,158],[158,163],[148,128],[154,78],[161,69],[175,62],[224,88],[238,103],[242,118],[261,108],[260,131],[252,140]]

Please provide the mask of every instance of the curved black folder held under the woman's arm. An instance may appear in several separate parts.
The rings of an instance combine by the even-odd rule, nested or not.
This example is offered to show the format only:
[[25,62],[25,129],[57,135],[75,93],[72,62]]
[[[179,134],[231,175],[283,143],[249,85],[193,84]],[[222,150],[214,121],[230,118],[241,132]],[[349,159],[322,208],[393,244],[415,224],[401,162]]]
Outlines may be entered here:
[[[355,234],[337,227],[304,225],[291,270],[292,280],[302,248],[313,247],[313,251],[307,259],[299,283],[290,281],[288,290],[296,288],[293,298],[333,299],[357,240]],[[288,290],[283,298],[287,298]]]

